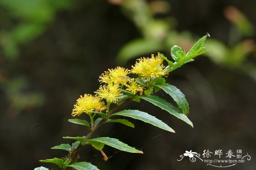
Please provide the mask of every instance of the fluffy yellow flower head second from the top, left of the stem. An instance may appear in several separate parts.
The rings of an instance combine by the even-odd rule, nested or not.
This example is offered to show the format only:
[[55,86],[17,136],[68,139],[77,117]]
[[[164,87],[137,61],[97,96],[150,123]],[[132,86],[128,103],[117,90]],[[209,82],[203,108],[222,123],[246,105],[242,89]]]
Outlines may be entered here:
[[108,69],[101,76],[99,76],[99,82],[125,84],[128,81],[129,70],[123,67],[116,67],[114,69]]

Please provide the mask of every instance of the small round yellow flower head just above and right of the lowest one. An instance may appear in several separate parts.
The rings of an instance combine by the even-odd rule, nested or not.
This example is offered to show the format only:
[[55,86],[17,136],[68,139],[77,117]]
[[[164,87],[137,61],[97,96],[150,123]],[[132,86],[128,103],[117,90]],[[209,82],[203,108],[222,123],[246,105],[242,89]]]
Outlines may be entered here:
[[118,99],[122,98],[122,96],[120,96],[122,92],[117,84],[105,84],[100,86],[95,93],[98,94],[100,98],[106,99],[106,101],[110,103],[116,103]]

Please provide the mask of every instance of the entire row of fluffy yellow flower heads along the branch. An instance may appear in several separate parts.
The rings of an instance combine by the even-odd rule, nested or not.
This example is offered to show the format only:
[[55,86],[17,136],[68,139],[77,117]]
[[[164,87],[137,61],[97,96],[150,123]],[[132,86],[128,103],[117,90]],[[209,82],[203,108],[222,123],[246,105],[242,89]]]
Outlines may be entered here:
[[99,76],[99,82],[105,83],[105,85],[100,86],[95,93],[97,95],[85,94],[80,96],[74,105],[72,111],[72,116],[81,115],[83,112],[86,114],[91,114],[92,111],[101,112],[107,107],[102,99],[105,99],[108,104],[116,103],[120,98],[122,98],[121,87],[126,86],[126,90],[136,94],[140,91],[143,92],[143,88],[139,83],[135,81],[134,78],[129,78],[128,74],[134,73],[139,74],[142,79],[150,81],[151,78],[157,78],[167,75],[163,71],[165,66],[163,66],[163,58],[159,55],[151,55],[151,58],[140,58],[132,66],[132,70],[125,69],[123,67],[116,67],[114,69],[108,69],[101,76]]

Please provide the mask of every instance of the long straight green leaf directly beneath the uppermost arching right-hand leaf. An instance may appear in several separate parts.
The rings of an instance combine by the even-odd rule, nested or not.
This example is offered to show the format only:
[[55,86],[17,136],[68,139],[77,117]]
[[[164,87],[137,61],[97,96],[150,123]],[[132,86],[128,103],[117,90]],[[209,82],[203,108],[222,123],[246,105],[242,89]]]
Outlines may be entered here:
[[155,106],[158,106],[163,110],[166,110],[170,114],[176,116],[177,118],[183,120],[184,122],[188,123],[190,126],[193,127],[193,123],[188,119],[186,115],[184,115],[180,110],[178,110],[178,108],[174,107],[172,104],[166,102],[164,99],[153,95],[142,95],[139,97],[147,100],[150,103],[153,103]]

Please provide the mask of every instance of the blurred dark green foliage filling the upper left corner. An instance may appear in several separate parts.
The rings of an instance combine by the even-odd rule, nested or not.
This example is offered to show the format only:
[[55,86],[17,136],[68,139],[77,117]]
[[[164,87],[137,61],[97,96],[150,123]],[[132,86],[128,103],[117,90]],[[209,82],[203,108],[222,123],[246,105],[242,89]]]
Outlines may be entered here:
[[69,0],[1,0],[0,44],[7,59],[19,56],[19,46],[41,35]]

